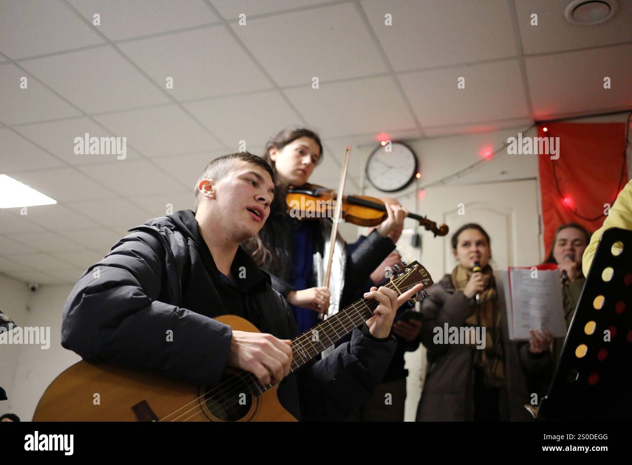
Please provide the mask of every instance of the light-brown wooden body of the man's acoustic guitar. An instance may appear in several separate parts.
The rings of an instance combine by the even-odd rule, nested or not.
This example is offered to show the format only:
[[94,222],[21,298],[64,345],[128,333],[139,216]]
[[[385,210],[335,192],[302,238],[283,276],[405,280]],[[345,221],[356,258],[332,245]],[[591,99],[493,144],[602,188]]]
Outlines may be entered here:
[[[238,316],[216,319],[233,330],[259,332]],[[255,395],[244,373],[229,368],[218,387],[205,387],[80,361],[52,381],[33,421],[296,421],[279,403],[278,385]]]

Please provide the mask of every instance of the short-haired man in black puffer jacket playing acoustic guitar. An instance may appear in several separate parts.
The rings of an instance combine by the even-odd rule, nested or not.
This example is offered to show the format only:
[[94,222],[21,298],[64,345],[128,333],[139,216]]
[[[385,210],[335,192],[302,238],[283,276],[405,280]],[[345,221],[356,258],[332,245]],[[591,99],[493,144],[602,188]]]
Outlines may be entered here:
[[[215,385],[227,367],[281,382],[295,418],[343,419],[372,394],[391,361],[395,311],[421,287],[387,287],[365,298],[379,306],[351,341],[288,376],[296,325],[240,244],[264,225],[274,197],[272,170],[247,152],[215,159],[195,188],[196,211],[178,211],[130,230],[88,268],[64,306],[62,345],[87,361],[150,369]],[[262,333],[216,321],[248,319]]]

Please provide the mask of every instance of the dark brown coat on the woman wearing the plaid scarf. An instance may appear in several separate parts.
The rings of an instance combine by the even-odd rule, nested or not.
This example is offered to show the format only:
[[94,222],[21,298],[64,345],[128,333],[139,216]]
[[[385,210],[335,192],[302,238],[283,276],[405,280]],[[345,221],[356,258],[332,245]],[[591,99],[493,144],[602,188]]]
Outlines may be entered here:
[[[434,328],[470,326],[465,320],[475,311],[474,299],[455,291],[450,275],[428,289],[422,302],[422,344],[428,357],[417,421],[471,421],[474,418],[474,366],[472,349],[466,345],[434,344]],[[500,293],[499,293],[500,294]],[[530,402],[520,349],[509,340],[506,313],[502,312],[506,388],[501,396],[501,418],[528,420]],[[526,346],[525,346],[526,347]]]

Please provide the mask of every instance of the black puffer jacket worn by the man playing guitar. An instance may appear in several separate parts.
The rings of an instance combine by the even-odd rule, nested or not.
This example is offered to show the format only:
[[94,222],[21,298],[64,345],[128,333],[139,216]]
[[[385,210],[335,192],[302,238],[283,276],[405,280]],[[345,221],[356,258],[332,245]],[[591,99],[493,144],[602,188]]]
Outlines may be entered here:
[[[209,273],[201,268],[201,245],[179,226],[192,215],[190,210],[178,211],[132,228],[88,268],[64,306],[63,347],[88,361],[152,369],[191,383],[219,382],[232,332],[212,319],[226,309]],[[272,290],[269,276],[241,248],[235,260],[248,274],[265,276],[245,297],[248,314],[260,316],[258,329],[294,338],[289,306]],[[183,292],[191,284],[204,294],[184,308]],[[172,342],[166,341],[167,330],[173,331]],[[299,419],[342,419],[372,394],[395,347],[394,337],[376,339],[363,325],[324,360],[283,380],[279,400]]]

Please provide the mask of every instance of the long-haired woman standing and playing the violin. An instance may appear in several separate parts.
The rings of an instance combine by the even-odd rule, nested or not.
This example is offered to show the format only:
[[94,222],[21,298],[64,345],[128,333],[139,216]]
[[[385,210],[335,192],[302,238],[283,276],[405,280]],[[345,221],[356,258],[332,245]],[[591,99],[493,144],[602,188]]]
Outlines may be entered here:
[[296,218],[286,207],[288,189],[307,185],[322,157],[319,136],[305,128],[283,130],[268,142],[264,159],[276,173],[277,194],[264,228],[244,244],[258,266],[270,273],[272,287],[289,302],[299,332],[316,325],[319,313],[327,313],[330,305],[337,311],[355,300],[358,285],[395,248],[399,235],[394,233],[401,232],[408,214],[398,204],[388,204],[386,219],[350,253],[341,238],[336,240],[332,296],[329,288],[319,287],[327,261],[325,249],[331,247],[331,218]]

